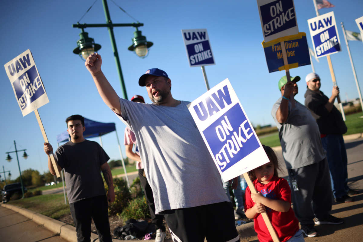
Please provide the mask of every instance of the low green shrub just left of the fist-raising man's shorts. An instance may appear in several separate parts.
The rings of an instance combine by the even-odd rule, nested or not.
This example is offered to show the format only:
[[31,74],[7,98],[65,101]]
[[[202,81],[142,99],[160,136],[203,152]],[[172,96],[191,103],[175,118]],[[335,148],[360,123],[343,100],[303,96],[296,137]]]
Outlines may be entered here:
[[136,220],[145,219],[146,217],[150,218],[150,210],[147,206],[145,196],[131,200],[129,206],[127,206],[121,213],[123,221],[127,221],[130,218],[134,218]]

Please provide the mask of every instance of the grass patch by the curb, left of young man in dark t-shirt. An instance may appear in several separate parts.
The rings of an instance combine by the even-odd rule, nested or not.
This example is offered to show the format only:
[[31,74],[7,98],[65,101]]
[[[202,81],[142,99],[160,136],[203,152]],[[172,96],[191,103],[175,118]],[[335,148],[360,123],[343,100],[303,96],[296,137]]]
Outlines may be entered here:
[[26,208],[54,219],[70,213],[69,205],[64,204],[64,194],[28,197],[10,201],[9,204]]

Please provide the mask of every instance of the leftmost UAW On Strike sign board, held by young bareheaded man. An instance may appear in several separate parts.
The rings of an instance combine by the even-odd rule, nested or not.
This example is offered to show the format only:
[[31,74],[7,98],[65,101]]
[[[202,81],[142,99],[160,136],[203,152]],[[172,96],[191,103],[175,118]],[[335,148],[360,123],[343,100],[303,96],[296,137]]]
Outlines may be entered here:
[[49,103],[30,50],[4,65],[23,116]]

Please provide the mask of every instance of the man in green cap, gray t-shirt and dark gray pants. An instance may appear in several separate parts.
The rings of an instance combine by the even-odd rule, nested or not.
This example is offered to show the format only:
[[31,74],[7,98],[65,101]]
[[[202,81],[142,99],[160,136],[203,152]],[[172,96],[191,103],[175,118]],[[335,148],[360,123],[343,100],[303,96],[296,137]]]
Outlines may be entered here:
[[[278,82],[281,98],[271,114],[279,129],[282,155],[291,182],[294,212],[307,237],[317,236],[314,223],[340,224],[343,220],[331,216],[331,184],[329,166],[322,147],[319,127],[311,112],[294,98],[300,77],[286,76]],[[291,102],[294,102],[294,107]]]

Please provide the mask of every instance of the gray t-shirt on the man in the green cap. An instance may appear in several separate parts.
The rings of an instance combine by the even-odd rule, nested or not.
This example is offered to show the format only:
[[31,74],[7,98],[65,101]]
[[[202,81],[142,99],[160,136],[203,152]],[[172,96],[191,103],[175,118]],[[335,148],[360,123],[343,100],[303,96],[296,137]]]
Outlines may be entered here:
[[321,144],[318,124],[311,112],[299,102],[291,109],[289,102],[289,116],[285,123],[280,124],[276,119],[276,112],[281,100],[282,97],[273,105],[271,115],[279,130],[286,167],[296,169],[322,161],[326,155]]

